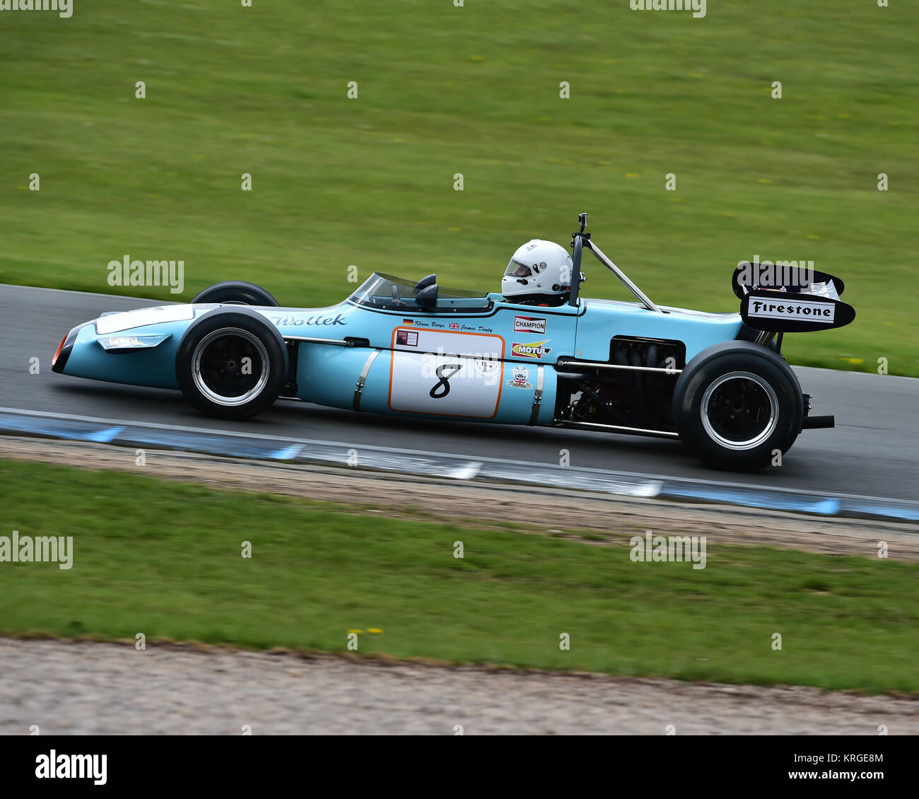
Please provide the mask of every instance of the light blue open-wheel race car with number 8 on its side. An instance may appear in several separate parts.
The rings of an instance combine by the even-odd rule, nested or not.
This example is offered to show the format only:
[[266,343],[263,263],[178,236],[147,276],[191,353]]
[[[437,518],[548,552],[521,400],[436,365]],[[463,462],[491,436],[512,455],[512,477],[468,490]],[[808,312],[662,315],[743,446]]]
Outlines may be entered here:
[[[834,426],[810,415],[781,343],[786,332],[855,318],[839,299],[841,280],[812,270],[777,280],[748,263],[732,280],[739,314],[659,306],[584,233],[586,214],[579,221],[570,285],[552,306],[445,289],[435,275],[375,273],[332,307],[284,308],[252,283],[227,281],[190,304],[77,325],[52,368],[179,389],[212,417],[251,417],[291,397],[401,417],[681,439],[728,470],[762,467],[802,429]],[[637,302],[581,297],[584,250]]]

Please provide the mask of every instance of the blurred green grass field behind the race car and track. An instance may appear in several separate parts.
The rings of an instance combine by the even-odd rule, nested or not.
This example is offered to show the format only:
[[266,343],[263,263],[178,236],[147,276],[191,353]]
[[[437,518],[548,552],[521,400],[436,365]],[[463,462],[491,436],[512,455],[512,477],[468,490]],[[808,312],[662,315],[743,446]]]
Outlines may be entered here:
[[[917,375],[917,27],[873,0],[724,0],[701,19],[626,0],[4,13],[0,281],[176,299],[109,287],[127,254],[184,260],[185,298],[235,278],[337,302],[352,264],[496,291],[517,245],[567,245],[586,210],[665,304],[735,311],[738,261],[813,260],[858,317],[789,337],[789,360]],[[588,271],[586,294],[609,296]]]

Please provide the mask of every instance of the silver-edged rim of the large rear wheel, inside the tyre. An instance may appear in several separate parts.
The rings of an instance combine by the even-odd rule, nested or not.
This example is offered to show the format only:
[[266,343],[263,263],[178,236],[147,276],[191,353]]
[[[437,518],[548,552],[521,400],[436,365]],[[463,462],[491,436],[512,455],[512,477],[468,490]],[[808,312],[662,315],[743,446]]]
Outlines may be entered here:
[[[747,397],[747,402],[741,402],[742,397]],[[728,450],[752,450],[778,426],[778,397],[758,374],[731,371],[709,384],[702,395],[699,413],[702,427],[720,446]]]

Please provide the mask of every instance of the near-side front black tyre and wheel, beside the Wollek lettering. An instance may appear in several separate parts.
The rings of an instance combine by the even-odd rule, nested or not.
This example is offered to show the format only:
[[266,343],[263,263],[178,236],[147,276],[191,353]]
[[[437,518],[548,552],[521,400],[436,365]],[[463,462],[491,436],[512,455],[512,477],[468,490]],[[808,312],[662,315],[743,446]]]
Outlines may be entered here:
[[278,399],[287,371],[278,329],[248,308],[217,308],[199,316],[176,350],[178,387],[209,417],[255,416]]

